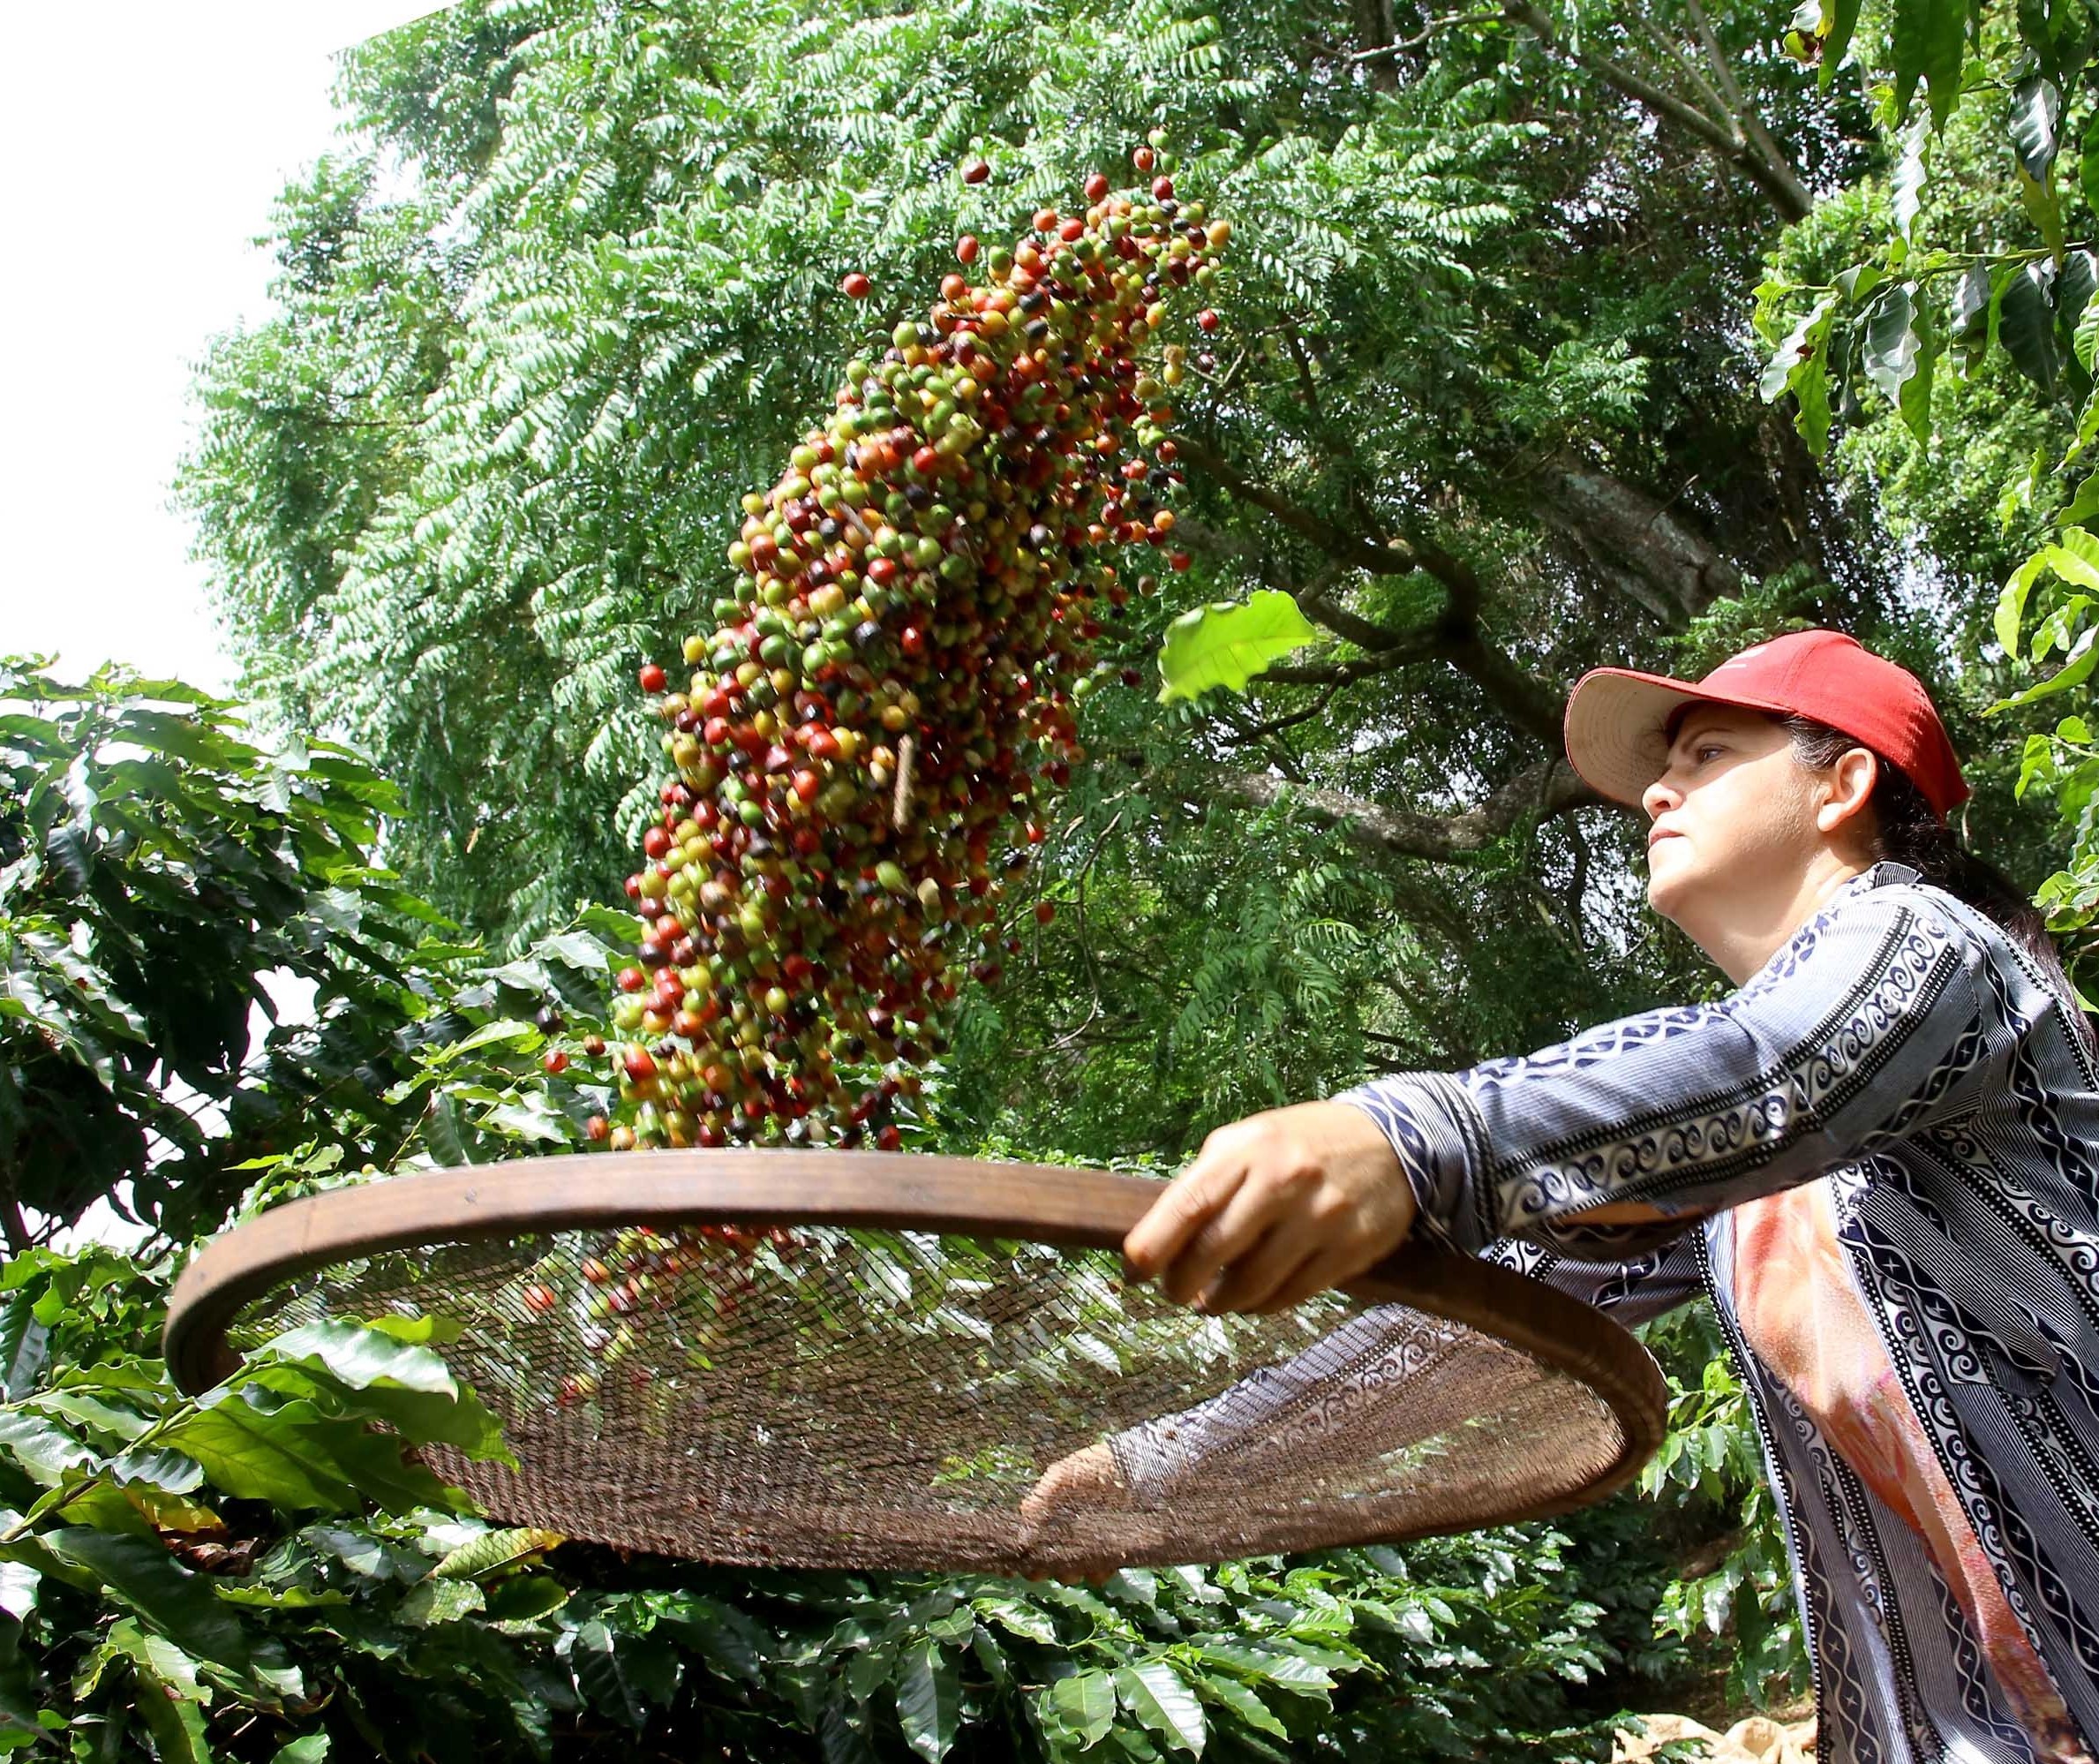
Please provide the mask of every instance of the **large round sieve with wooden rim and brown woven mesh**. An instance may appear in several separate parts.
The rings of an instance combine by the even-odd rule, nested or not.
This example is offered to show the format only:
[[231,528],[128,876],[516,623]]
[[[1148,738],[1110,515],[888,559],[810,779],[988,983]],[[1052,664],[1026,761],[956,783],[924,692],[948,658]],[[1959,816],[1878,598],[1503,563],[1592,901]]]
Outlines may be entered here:
[[[493,1518],[718,1562],[1058,1575],[1400,1541],[1625,1485],[1665,1388],[1599,1312],[1411,1247],[1276,1317],[1125,1287],[1157,1182],[838,1151],[476,1166],[290,1201],[176,1283],[197,1392],[317,1317],[439,1315]],[[441,1331],[451,1334],[451,1329]]]

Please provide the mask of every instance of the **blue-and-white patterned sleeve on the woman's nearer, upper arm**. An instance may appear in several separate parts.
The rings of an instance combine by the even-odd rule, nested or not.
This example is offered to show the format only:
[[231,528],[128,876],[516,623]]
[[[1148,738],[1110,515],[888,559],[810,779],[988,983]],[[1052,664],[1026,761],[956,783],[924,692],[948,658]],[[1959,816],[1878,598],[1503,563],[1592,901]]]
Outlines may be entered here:
[[[1981,1071],[1984,960],[1935,890],[1853,882],[1717,1004],[1337,1100],[1383,1128],[1421,1228],[1455,1247],[1631,1256],[1944,1113]],[[1660,1220],[1581,1222],[1623,1203]]]

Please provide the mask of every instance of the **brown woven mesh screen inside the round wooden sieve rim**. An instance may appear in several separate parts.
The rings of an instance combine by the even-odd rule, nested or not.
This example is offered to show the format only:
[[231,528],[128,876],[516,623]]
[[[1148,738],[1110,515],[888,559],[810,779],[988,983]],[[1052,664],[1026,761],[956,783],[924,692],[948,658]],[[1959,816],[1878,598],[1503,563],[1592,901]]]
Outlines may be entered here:
[[1578,1495],[1583,1382],[1339,1296],[1201,1317],[1112,1254],[921,1233],[563,1231],[340,1262],[250,1304],[426,1315],[521,1470],[495,1518],[718,1562],[1077,1573],[1400,1539]]

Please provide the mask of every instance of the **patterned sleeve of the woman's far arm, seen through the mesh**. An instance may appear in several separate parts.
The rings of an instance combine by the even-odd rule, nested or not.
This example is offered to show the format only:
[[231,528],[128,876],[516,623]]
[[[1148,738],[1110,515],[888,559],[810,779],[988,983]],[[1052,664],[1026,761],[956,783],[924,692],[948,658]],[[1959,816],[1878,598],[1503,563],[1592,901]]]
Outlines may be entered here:
[[[1482,1260],[1555,1285],[1631,1325],[1698,1294],[1694,1231],[1623,1262],[1578,1262],[1513,1239],[1488,1245]],[[1463,1338],[1463,1329],[1404,1304],[1371,1306],[1301,1354],[1257,1367],[1207,1403],[1112,1434],[1117,1476],[1138,1502],[1159,1504],[1190,1474],[1230,1474],[1249,1457],[1280,1451],[1303,1472],[1362,1457],[1366,1436],[1381,1436],[1390,1449],[1440,1432],[1488,1401],[1469,1380],[1446,1388],[1450,1380],[1440,1376]]]

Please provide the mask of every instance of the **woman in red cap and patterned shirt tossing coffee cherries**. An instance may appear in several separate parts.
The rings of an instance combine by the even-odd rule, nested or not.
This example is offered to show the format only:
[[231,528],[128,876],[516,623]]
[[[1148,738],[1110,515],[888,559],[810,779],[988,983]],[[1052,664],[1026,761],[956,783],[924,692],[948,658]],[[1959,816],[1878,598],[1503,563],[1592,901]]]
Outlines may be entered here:
[[[1222,1128],[1129,1233],[1131,1273],[1274,1310],[1425,1231],[1625,1323],[1709,1292],[1786,1518],[1822,1764],[2091,1764],[2099,1075],[2038,916],[1946,827],[1967,785],[1929,695],[1799,632],[1698,682],[1587,674],[1566,743],[1646,808],[1650,905],[1738,989]],[[1293,1382],[1066,1460],[1033,1516],[1169,1499]]]

